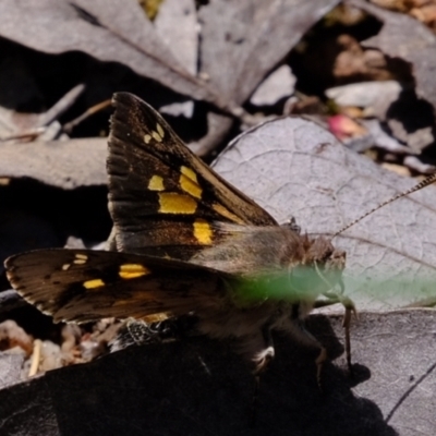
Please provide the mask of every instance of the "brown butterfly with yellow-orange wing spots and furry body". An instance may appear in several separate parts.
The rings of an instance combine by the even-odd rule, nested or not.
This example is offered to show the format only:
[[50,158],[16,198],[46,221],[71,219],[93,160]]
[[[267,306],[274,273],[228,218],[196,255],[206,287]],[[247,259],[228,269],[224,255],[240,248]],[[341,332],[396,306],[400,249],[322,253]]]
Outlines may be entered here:
[[190,314],[211,338],[231,338],[263,371],[274,329],[325,349],[305,329],[316,299],[336,292],[346,254],[300,234],[196,157],[162,117],[113,96],[107,171],[111,251],[39,250],[5,261],[14,289],[55,322],[155,320]]

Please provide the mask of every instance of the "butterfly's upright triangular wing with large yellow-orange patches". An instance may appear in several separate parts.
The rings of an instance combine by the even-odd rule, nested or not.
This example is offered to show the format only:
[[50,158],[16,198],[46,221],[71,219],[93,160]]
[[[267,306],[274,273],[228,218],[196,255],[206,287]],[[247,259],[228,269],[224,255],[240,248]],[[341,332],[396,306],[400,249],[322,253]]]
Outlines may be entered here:
[[119,251],[190,259],[223,234],[213,223],[277,226],[198,159],[149,105],[113,97],[109,208]]

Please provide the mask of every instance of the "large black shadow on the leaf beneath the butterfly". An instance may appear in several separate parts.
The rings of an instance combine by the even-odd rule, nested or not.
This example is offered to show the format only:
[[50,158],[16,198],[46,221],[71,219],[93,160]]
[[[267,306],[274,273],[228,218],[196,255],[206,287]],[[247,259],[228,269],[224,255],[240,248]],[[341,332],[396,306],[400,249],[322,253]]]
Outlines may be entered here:
[[[328,319],[313,317],[330,355],[341,349]],[[325,339],[327,339],[325,341]],[[255,423],[254,378],[221,342],[203,337],[133,347],[87,365],[47,373],[0,391],[4,434],[46,435],[387,435],[377,404],[350,390],[346,370],[328,363],[323,391],[316,351],[277,338],[262,376]]]

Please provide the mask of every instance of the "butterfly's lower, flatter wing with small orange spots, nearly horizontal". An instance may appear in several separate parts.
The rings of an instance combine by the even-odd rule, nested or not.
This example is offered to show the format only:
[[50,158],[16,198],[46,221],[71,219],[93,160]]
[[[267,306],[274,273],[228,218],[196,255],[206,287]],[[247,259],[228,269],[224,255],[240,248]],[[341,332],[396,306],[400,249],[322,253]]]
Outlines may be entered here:
[[217,271],[130,253],[37,250],[4,265],[13,288],[55,322],[202,313],[226,294]]

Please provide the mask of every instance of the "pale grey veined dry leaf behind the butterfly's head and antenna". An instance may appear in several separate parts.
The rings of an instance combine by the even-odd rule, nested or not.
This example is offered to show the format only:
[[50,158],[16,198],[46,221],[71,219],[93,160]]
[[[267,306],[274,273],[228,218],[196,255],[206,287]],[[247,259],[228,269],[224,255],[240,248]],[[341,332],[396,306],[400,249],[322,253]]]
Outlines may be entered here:
[[[332,235],[414,182],[295,118],[266,122],[233,141],[215,169],[280,222]],[[395,310],[436,298],[436,187],[401,198],[334,240],[347,252],[346,293],[359,310]]]

